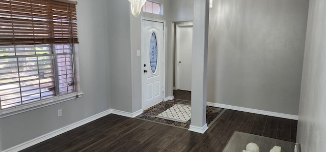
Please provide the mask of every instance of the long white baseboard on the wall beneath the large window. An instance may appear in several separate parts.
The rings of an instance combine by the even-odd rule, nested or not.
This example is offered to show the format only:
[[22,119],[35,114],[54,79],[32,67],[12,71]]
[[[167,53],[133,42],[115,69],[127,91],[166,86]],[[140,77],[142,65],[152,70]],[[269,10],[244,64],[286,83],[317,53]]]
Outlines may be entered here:
[[75,128],[79,127],[79,126],[83,126],[83,125],[85,125],[87,123],[90,123],[91,121],[94,121],[94,120],[96,120],[98,118],[101,118],[103,116],[106,116],[108,114],[111,114],[111,111],[112,110],[110,109],[110,110],[106,110],[106,111],[103,111],[101,113],[95,114],[95,115],[90,116],[90,117],[88,117],[86,119],[80,120],[80,121],[78,121],[78,122],[76,122],[74,124],[68,125],[66,127],[60,128],[58,130],[55,130],[55,131],[52,131],[52,132],[47,133],[45,135],[39,136],[37,138],[34,138],[34,139],[30,140],[30,141],[26,141],[24,143],[21,143],[19,145],[16,145],[14,147],[11,147],[9,149],[6,149],[6,150],[4,150],[4,152],[5,151],[20,151],[20,150],[23,150],[25,148],[28,148],[28,147],[33,146],[35,144],[38,144],[38,143],[40,143],[42,141],[45,141],[47,139],[56,137],[56,136],[58,136],[60,134],[63,134],[65,132],[67,132],[67,131],[70,131],[72,129],[75,129]]

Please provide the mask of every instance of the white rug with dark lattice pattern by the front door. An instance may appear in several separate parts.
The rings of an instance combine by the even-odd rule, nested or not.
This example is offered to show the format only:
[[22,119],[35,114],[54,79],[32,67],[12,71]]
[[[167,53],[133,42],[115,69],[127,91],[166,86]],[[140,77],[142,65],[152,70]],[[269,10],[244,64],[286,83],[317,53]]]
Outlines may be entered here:
[[156,117],[186,123],[191,118],[191,106],[175,104]]

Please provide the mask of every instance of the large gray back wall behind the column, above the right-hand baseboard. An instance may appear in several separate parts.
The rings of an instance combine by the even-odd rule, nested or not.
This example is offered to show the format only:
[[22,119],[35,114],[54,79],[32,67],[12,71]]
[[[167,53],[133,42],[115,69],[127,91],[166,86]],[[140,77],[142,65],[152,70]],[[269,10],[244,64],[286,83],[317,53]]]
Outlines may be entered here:
[[[171,21],[191,19],[192,3],[171,1]],[[207,102],[297,115],[308,3],[213,1]]]

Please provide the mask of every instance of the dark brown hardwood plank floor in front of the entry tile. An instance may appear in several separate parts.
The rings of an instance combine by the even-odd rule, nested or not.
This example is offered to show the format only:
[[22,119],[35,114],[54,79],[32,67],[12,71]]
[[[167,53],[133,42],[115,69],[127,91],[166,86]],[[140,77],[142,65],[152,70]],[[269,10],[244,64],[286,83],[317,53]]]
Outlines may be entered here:
[[234,131],[295,142],[296,120],[227,110],[205,134],[110,114],[22,151],[222,151]]

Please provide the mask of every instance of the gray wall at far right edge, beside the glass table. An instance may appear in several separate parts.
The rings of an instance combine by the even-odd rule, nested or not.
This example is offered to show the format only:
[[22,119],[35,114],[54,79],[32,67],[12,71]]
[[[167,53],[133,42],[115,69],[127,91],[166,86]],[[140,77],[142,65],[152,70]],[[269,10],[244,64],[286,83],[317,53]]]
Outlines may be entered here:
[[326,149],[326,1],[310,0],[297,142],[302,151]]

